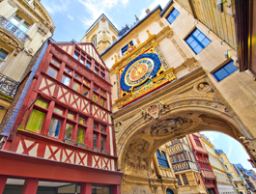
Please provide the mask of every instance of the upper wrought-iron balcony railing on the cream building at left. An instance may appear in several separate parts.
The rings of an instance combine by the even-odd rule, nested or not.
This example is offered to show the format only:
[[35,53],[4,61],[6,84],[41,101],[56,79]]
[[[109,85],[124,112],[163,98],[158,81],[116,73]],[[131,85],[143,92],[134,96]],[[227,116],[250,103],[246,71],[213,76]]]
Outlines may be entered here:
[[26,42],[26,40],[29,39],[29,36],[26,33],[24,33],[22,30],[16,27],[16,25],[12,21],[10,21],[4,16],[0,17],[0,26],[8,30],[21,42]]

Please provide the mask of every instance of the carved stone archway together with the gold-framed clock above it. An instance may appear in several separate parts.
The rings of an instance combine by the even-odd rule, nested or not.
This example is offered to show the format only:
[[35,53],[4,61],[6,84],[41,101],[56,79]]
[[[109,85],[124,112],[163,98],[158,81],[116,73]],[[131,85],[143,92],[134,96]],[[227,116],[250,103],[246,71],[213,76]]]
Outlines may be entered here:
[[112,118],[118,168],[124,172],[122,193],[160,194],[167,188],[179,193],[174,176],[156,178],[152,168],[154,153],[171,139],[198,131],[219,131],[235,138],[254,162],[256,154],[248,134],[205,70],[194,58],[186,58],[189,73],[177,79],[158,47],[156,40],[160,38],[149,31],[147,34],[146,42],[128,44],[125,56],[120,61],[116,58],[113,66],[119,111]]

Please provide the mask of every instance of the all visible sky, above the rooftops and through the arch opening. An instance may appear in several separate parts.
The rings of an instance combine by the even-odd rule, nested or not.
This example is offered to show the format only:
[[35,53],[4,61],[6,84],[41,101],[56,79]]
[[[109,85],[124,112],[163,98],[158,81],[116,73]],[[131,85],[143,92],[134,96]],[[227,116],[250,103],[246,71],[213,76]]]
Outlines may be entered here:
[[[160,4],[162,8],[169,0],[42,0],[41,3],[51,15],[56,30],[53,39],[57,42],[76,42],[85,35],[86,30],[104,13],[119,30],[122,26],[133,24],[134,14],[145,16],[149,8],[153,10]],[[249,156],[242,145],[233,138],[217,132],[204,132],[216,149],[223,150],[232,163],[242,163],[251,169]]]

